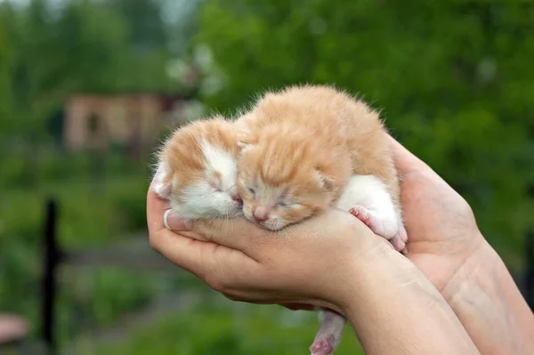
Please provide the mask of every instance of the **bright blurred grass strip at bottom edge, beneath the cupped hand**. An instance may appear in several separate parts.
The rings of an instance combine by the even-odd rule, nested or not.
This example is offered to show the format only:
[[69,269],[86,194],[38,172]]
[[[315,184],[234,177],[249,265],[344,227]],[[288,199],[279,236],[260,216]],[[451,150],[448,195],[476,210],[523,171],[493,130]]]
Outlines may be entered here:
[[[205,302],[138,328],[124,343],[85,343],[83,355],[295,355],[308,353],[317,314],[275,305]],[[336,355],[363,354],[345,327]]]

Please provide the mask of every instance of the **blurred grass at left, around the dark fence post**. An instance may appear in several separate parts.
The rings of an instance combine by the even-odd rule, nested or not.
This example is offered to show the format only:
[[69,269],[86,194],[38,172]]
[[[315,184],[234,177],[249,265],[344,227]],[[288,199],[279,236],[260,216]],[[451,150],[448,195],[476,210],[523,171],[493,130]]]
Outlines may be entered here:
[[[0,310],[17,312],[37,325],[42,278],[44,207],[59,203],[58,237],[67,250],[109,246],[128,235],[146,233],[142,173],[108,176],[95,183],[87,176],[41,182],[0,192]],[[70,272],[61,268],[58,302],[61,340],[86,327],[101,327],[125,311],[142,307],[158,292],[158,279],[129,270]],[[39,330],[33,327],[33,335]]]

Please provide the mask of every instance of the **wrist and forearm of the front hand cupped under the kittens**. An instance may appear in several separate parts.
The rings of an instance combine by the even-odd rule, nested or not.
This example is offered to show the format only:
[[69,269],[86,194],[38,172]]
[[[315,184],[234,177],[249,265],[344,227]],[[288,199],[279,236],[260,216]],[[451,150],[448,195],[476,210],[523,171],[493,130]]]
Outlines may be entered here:
[[354,260],[338,301],[366,353],[405,354],[411,348],[478,354],[449,304],[415,264],[388,246],[376,249]]

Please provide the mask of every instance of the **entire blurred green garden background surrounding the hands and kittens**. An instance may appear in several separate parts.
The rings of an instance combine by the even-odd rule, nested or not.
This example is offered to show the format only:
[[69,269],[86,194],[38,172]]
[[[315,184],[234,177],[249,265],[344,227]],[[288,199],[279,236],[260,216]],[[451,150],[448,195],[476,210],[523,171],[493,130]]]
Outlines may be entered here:
[[[380,109],[521,274],[534,221],[533,59],[532,1],[0,0],[0,313],[28,319],[25,343],[39,342],[47,198],[63,248],[137,243],[153,256],[145,194],[158,141],[304,82]],[[141,271],[61,266],[62,351],[300,354],[312,343],[313,313],[231,303],[136,259]],[[347,329],[336,353],[359,349]]]

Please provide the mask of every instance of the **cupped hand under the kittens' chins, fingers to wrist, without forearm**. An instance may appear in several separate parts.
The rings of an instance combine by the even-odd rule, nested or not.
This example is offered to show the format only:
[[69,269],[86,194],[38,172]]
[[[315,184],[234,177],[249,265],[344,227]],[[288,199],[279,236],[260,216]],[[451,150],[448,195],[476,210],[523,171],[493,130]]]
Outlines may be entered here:
[[150,245],[232,300],[343,313],[352,302],[351,279],[364,262],[381,267],[381,258],[401,256],[357,218],[335,209],[271,232],[240,218],[197,221],[190,231],[173,213],[169,230],[163,221],[168,208],[150,189]]

